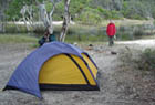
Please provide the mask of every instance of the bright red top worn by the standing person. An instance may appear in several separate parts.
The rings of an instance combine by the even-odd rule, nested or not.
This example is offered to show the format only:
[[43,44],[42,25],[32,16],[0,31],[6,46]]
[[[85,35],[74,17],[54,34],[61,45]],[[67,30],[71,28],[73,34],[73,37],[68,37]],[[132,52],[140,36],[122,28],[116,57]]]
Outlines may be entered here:
[[116,28],[114,23],[108,23],[107,29],[106,29],[106,33],[108,36],[113,36],[116,33]]

